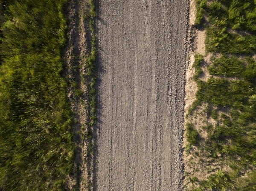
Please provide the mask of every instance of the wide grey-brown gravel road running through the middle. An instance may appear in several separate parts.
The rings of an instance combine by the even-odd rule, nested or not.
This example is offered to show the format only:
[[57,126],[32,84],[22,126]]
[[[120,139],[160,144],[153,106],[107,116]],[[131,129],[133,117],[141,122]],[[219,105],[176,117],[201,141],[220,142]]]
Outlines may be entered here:
[[98,0],[95,191],[180,191],[189,0]]

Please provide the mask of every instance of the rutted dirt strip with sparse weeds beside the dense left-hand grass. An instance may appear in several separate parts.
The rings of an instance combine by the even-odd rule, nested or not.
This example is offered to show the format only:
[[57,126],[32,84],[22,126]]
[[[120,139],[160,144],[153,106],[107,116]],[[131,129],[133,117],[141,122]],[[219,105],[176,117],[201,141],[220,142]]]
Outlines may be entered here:
[[67,190],[91,190],[93,185],[93,162],[90,156],[90,128],[87,59],[90,55],[89,0],[70,0],[66,6],[68,18],[67,45],[63,50],[65,77],[68,83],[68,100],[73,113],[73,132],[76,144],[73,171],[67,178]]

